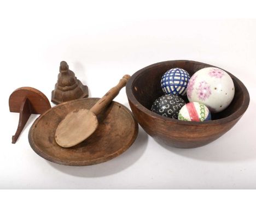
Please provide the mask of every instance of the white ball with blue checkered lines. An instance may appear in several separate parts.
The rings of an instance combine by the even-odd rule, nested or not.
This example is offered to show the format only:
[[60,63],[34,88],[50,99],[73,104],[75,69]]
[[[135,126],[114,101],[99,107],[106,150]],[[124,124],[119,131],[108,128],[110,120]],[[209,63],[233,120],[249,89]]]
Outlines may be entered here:
[[185,95],[190,76],[181,68],[173,68],[165,72],[161,79],[161,88],[166,95]]

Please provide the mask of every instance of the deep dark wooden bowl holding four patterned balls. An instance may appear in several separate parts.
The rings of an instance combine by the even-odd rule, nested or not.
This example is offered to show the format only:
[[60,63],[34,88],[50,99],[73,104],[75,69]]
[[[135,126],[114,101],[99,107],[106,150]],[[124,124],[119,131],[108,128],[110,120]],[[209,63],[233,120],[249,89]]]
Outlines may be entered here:
[[237,123],[249,105],[249,93],[245,85],[228,71],[235,84],[234,100],[224,111],[213,114],[211,121],[181,121],[150,111],[155,99],[163,95],[160,80],[167,70],[182,68],[193,75],[209,66],[212,65],[172,60],[147,66],[132,75],[126,85],[126,94],[135,118],[150,136],[176,148],[196,148],[219,138]]

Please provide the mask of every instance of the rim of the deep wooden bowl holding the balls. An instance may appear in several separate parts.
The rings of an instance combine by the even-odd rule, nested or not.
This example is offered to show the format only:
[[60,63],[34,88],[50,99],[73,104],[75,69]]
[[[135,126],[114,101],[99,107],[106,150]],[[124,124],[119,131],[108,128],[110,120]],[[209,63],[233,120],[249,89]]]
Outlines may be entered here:
[[183,125],[204,126],[204,125],[219,125],[219,124],[229,123],[230,121],[241,117],[243,115],[243,113],[246,112],[246,110],[249,106],[249,101],[250,101],[250,97],[249,97],[249,93],[248,93],[247,88],[237,77],[235,77],[230,72],[228,72],[228,71],[226,71],[222,68],[219,68],[219,69],[222,69],[225,72],[227,72],[230,75],[230,77],[232,79],[234,79],[237,82],[237,84],[241,87],[242,93],[243,93],[242,105],[237,109],[236,112],[230,114],[228,117],[217,119],[217,120],[203,121],[203,122],[183,121],[183,120],[178,120],[178,119],[171,119],[171,118],[167,118],[167,117],[162,117],[161,115],[156,114],[156,113],[150,111],[148,108],[141,105],[141,103],[139,103],[139,101],[136,99],[136,97],[132,93],[133,83],[134,83],[134,81],[136,81],[138,76],[143,74],[144,72],[146,72],[148,69],[154,68],[155,66],[160,66],[160,65],[163,65],[163,64],[167,64],[167,63],[169,64],[169,63],[179,63],[179,62],[188,62],[188,63],[194,63],[194,64],[205,64],[205,65],[208,65],[207,67],[219,68],[217,66],[213,66],[213,65],[210,65],[210,64],[202,63],[202,62],[195,62],[193,60],[167,60],[165,62],[158,62],[158,63],[155,63],[155,64],[151,64],[151,65],[146,66],[145,68],[142,68],[142,69],[138,70],[137,72],[135,72],[135,74],[133,74],[131,76],[131,78],[129,79],[129,81],[127,82],[127,84],[126,84],[126,95],[127,95],[127,98],[129,100],[129,102],[131,102],[133,105],[135,105],[139,109],[139,111],[142,111],[142,112],[150,115],[150,117],[152,117],[154,119],[158,119],[158,120],[161,120],[163,122],[168,122],[168,123],[172,123],[172,124],[183,124]]

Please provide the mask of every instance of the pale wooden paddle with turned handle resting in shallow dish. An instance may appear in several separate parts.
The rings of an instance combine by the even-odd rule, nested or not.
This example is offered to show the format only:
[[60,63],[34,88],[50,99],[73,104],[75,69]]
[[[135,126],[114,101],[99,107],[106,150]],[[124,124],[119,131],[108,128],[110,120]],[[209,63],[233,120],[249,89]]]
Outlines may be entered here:
[[63,148],[69,148],[91,136],[98,127],[96,116],[119,94],[130,77],[130,75],[125,75],[120,79],[118,85],[110,89],[90,110],[75,109],[68,113],[57,126],[56,143]]

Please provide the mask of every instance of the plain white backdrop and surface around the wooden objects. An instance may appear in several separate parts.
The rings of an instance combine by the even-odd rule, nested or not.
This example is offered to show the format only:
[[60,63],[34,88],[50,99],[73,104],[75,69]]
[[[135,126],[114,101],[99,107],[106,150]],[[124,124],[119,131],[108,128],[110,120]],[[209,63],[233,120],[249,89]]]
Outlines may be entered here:
[[[139,16],[141,10],[123,15],[107,3],[22,1],[1,7],[0,188],[256,188],[256,21],[168,20],[162,9],[156,18],[147,11]],[[9,112],[9,95],[29,86],[50,100],[61,60],[88,85],[90,97],[101,97],[123,75],[175,59],[228,70],[251,95],[245,115],[213,143],[175,149],[140,129],[131,148],[111,161],[60,166],[30,148],[28,130],[37,118],[32,115],[11,144],[19,114]],[[129,107],[125,89],[115,101]]]

